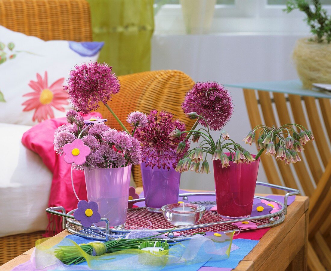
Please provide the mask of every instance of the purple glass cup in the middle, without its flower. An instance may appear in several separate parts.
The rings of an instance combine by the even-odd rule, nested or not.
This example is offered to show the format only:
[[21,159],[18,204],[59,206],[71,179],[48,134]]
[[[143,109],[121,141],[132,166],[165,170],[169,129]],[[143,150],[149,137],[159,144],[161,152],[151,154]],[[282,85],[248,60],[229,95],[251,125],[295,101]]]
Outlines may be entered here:
[[154,213],[162,213],[161,207],[177,203],[179,194],[180,172],[140,164],[143,180],[146,209]]

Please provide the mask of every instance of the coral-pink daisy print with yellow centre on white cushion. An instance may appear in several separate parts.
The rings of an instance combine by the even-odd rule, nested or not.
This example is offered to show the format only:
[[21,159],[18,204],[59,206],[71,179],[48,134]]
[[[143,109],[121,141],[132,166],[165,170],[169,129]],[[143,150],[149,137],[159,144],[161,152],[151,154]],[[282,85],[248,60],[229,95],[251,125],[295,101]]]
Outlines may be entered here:
[[52,107],[64,112],[63,105],[68,105],[68,93],[63,89],[64,78],[60,78],[52,85],[48,86],[47,71],[45,71],[44,79],[37,73],[37,81],[31,80],[28,84],[33,92],[23,95],[23,97],[31,97],[22,105],[25,106],[23,111],[35,110],[32,116],[32,121],[41,122],[49,118],[54,118]]

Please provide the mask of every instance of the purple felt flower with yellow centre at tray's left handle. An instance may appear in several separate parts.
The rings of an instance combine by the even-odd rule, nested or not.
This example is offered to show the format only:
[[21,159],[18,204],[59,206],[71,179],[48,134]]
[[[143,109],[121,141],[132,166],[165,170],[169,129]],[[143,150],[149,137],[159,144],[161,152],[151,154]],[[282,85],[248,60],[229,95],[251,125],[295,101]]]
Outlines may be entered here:
[[73,212],[75,220],[79,220],[84,228],[89,228],[92,223],[98,223],[101,216],[98,212],[98,204],[94,201],[87,202],[81,200],[78,202],[77,209]]

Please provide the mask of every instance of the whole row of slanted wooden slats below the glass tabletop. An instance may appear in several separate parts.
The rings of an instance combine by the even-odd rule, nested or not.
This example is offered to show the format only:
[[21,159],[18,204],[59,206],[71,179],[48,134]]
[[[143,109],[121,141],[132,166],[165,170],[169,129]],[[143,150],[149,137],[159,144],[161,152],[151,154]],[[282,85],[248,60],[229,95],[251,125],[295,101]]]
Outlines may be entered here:
[[[289,166],[267,155],[262,155],[261,161],[270,183],[298,188],[296,182],[298,180],[304,194],[311,196],[314,192],[314,184],[318,184],[331,158],[330,100],[316,100],[313,97],[267,91],[255,92],[252,89],[244,89],[244,96],[252,127],[259,124],[272,126],[295,122],[307,129],[310,128],[315,142],[313,144],[308,142],[304,146],[304,154],[300,154],[303,162]],[[280,193],[279,190],[273,190],[273,192]]]

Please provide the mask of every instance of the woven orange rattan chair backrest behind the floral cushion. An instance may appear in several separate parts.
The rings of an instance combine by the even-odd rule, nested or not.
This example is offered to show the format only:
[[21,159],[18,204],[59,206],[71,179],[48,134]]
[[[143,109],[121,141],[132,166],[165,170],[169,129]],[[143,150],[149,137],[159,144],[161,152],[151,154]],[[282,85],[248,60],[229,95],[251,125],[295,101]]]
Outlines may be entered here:
[[45,41],[92,41],[85,0],[0,0],[0,25]]

